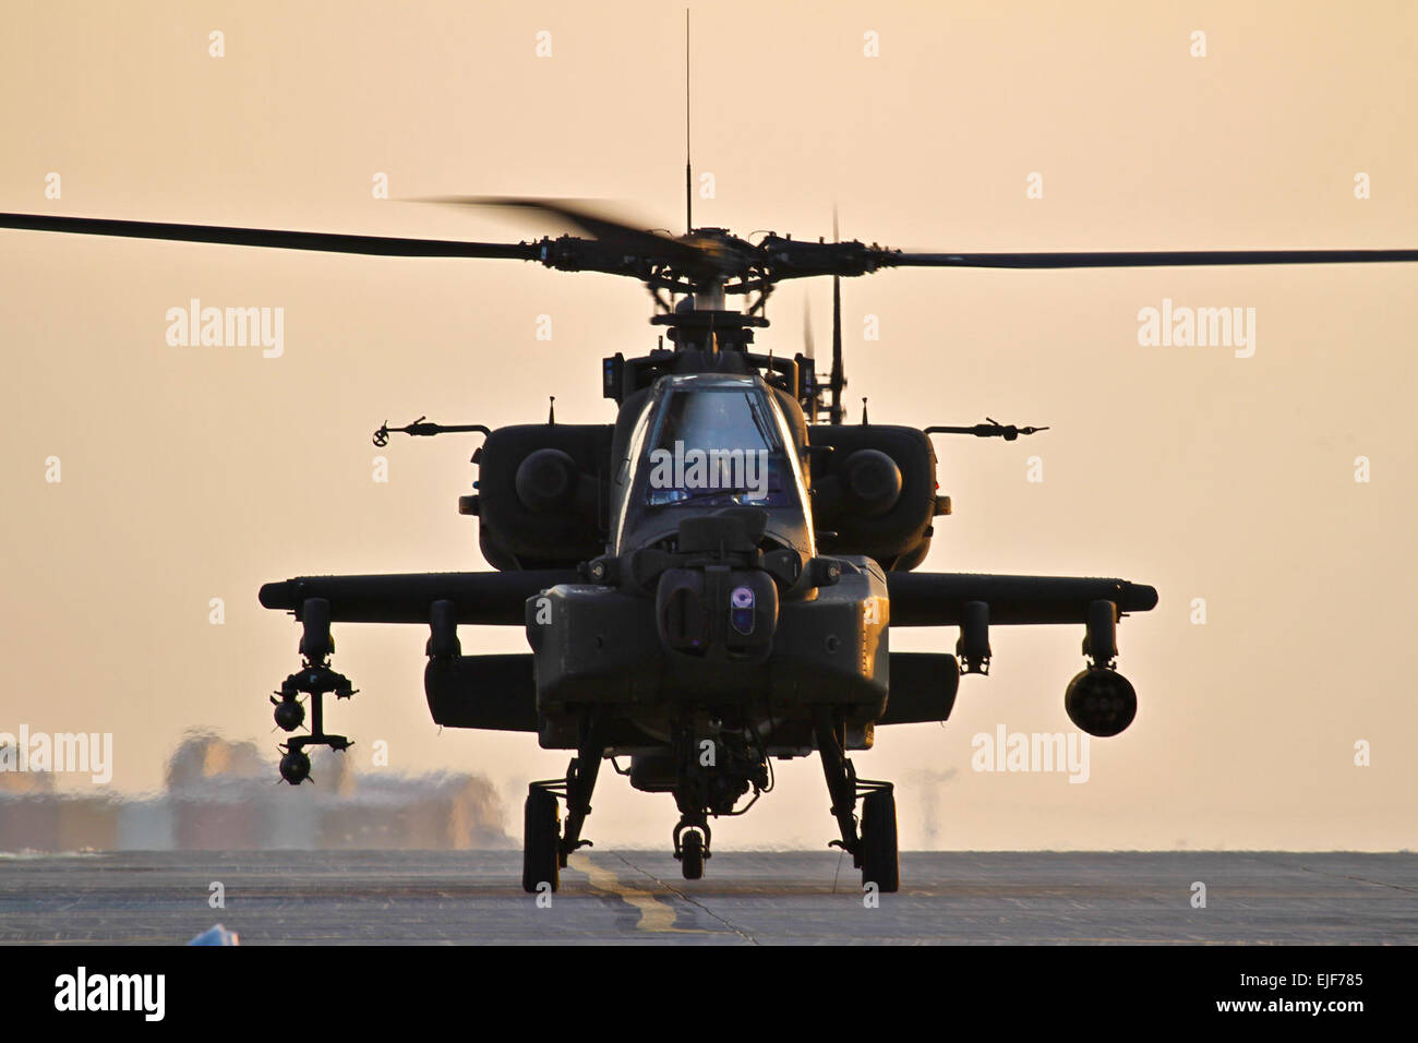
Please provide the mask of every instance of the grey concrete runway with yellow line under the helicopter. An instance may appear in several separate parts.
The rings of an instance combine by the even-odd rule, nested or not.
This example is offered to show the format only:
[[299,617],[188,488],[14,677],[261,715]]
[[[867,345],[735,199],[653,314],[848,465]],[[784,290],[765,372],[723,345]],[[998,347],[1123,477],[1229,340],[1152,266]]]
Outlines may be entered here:
[[[0,942],[1418,942],[1418,854],[908,851],[864,905],[834,851],[583,851],[550,908],[519,851],[0,856]],[[225,907],[208,905],[220,881]],[[1193,908],[1193,883],[1207,907]]]

